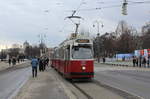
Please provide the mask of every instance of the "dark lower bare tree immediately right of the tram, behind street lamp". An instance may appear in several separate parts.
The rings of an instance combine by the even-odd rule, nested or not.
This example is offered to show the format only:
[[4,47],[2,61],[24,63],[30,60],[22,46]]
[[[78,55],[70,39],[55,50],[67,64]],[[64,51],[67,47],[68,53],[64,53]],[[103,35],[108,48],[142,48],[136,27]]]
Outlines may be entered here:
[[94,40],[95,57],[112,57],[115,54],[116,37],[114,32],[97,36]]

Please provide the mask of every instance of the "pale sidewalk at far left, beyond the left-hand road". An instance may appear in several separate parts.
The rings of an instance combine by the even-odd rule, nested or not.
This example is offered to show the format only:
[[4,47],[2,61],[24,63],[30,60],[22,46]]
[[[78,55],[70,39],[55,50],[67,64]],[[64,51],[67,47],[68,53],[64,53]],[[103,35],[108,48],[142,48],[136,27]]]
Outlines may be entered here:
[[12,67],[19,67],[20,65],[24,64],[24,63],[28,63],[29,61],[24,61],[24,62],[20,62],[20,63],[16,63],[16,65],[10,65],[8,62],[2,62],[0,61],[0,71],[6,70],[8,68],[12,68]]

